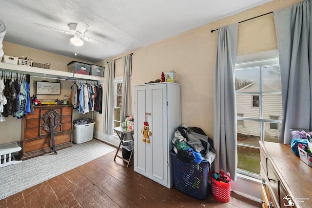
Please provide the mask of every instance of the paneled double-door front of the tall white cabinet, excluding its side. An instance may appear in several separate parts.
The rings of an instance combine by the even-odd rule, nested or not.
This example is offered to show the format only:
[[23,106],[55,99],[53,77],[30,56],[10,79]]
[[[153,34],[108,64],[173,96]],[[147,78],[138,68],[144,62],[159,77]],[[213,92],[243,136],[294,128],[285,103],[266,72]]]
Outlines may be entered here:
[[[167,186],[167,97],[166,84],[135,88],[135,171]],[[147,114],[146,114],[147,113]],[[150,143],[142,141],[143,123],[149,123]],[[137,131],[136,131],[137,130]]]

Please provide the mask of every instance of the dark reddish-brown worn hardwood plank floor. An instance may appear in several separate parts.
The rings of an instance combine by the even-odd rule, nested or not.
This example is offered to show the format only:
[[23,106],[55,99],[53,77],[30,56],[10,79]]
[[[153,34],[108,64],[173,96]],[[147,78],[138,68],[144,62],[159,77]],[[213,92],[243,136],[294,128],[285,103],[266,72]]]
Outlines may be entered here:
[[[0,208],[255,208],[259,203],[231,196],[229,203],[188,196],[138,174],[116,158],[99,157],[29,189],[0,200]],[[121,153],[121,151],[119,151]],[[248,201],[248,200],[247,200]],[[254,205],[252,205],[254,203]]]

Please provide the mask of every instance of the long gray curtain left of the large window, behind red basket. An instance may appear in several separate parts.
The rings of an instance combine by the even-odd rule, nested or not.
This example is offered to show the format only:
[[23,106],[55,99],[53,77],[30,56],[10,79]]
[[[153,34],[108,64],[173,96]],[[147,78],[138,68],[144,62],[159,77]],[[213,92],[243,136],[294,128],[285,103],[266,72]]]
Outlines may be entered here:
[[237,135],[234,68],[238,24],[218,29],[214,83],[215,171],[229,172],[236,180]]

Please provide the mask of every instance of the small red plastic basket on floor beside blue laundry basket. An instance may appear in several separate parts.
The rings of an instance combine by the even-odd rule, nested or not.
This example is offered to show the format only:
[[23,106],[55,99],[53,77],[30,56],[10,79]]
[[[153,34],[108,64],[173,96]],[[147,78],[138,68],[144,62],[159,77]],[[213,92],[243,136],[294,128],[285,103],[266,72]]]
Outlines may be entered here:
[[[214,174],[215,171],[210,172],[211,179],[211,191],[213,197],[219,202],[229,202],[231,199],[231,177],[230,175],[226,175],[229,183],[222,183],[215,180],[211,175]],[[225,176],[224,172],[220,171],[221,176]]]

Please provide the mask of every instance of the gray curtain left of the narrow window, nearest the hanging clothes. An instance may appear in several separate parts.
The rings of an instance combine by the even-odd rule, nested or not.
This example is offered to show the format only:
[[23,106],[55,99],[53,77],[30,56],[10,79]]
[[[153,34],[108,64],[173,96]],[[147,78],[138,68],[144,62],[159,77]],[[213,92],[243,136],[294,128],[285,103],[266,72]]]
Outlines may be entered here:
[[107,70],[105,70],[105,91],[104,91],[104,111],[105,112],[105,124],[104,133],[113,135],[114,127],[114,74],[115,74],[115,61],[109,61]]

